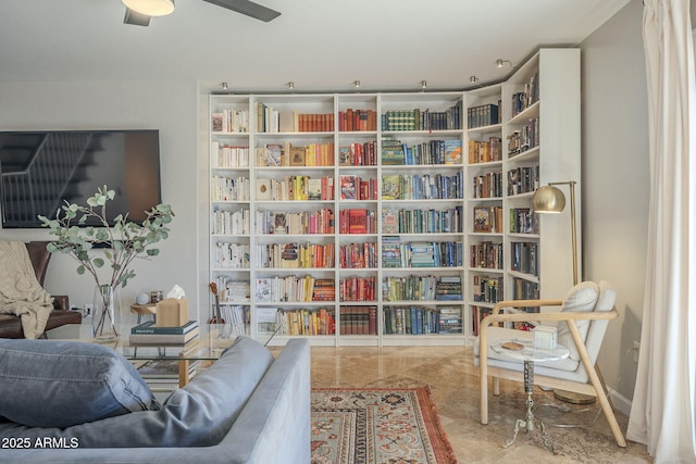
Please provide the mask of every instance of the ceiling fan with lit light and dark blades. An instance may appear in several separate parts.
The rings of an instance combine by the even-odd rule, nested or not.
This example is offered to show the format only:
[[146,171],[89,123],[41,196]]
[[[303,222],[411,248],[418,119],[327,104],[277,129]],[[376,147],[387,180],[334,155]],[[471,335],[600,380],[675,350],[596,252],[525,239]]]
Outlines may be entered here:
[[[203,1],[266,23],[281,15],[279,12],[250,0]],[[123,3],[126,5],[126,15],[123,22],[136,26],[147,26],[150,24],[150,17],[164,16],[174,11],[174,0],[123,0]]]

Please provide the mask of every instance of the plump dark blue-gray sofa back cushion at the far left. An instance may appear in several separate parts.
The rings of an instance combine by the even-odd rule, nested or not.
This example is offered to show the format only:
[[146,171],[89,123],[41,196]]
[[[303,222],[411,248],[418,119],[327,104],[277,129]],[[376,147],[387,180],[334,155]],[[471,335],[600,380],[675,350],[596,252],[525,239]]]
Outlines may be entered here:
[[0,340],[0,416],[34,427],[158,409],[135,367],[111,348],[78,341]]

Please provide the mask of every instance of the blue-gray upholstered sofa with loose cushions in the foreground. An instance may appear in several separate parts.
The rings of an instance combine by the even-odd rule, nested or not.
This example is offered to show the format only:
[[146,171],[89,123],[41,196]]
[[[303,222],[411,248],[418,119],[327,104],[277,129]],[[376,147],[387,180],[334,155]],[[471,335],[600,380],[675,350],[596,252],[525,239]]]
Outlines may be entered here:
[[[34,344],[17,346],[17,342]],[[59,344],[53,350],[48,349],[47,344],[36,343]],[[53,417],[46,411],[36,416],[27,415],[26,409],[14,405],[14,400],[3,402],[0,397],[2,462],[310,462],[310,354],[306,339],[290,340],[274,359],[260,343],[239,337],[220,360],[186,387],[176,390],[161,405],[149,397],[151,392],[141,391],[141,379],[137,373],[133,375],[129,363],[109,358],[111,353],[90,358],[91,351],[85,353],[86,348],[82,348],[87,346],[89,350],[95,350],[94,347],[99,346],[60,343],[71,342],[0,340],[0,396],[9,394],[11,389],[21,389],[25,397],[34,397],[40,402],[45,391],[50,391],[46,400],[61,396],[60,383],[65,380],[65,394],[79,397],[74,398],[74,409],[57,411]],[[27,351],[32,356],[30,362],[23,359]],[[60,362],[64,359],[70,360],[69,365],[77,374],[63,374],[65,369],[61,368]],[[114,377],[109,396],[110,399],[121,396],[116,409],[121,407],[122,411],[102,412],[111,416],[83,423],[98,409],[83,407],[85,403],[88,405],[97,401],[90,396],[91,391],[101,391],[103,388],[90,387],[91,391],[83,389],[82,385],[89,384],[90,378],[79,372],[79,365],[84,361],[84,371],[91,371],[104,359],[111,372],[109,375],[113,374]],[[32,374],[36,368],[25,367],[44,361],[54,367],[47,367],[47,374],[41,378]],[[46,377],[51,375],[55,376],[52,379],[55,383],[51,388],[46,388],[40,381],[46,383]],[[16,384],[14,379],[22,376],[24,378],[21,381],[26,383]],[[103,374],[99,377],[96,380],[98,383],[110,381],[103,380]],[[132,380],[123,380],[130,377]],[[127,401],[138,396],[138,401]],[[126,400],[123,400],[125,397]],[[102,399],[98,401],[103,402]],[[72,424],[70,419],[78,415],[80,409],[85,410],[83,412],[87,416],[79,416]],[[22,417],[22,423],[12,421],[17,416]],[[61,422],[66,416],[69,422]],[[47,427],[45,424],[55,421],[62,426]]]

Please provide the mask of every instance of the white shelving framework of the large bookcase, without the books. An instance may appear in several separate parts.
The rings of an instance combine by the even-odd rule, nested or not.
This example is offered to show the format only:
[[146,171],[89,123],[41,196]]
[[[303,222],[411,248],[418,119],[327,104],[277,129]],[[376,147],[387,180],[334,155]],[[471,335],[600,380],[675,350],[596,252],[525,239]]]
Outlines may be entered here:
[[[510,116],[511,98],[523,88],[530,76],[538,70],[540,84],[540,99],[532,109],[515,117]],[[558,217],[542,217],[539,233],[511,234],[509,210],[511,208],[526,208],[531,204],[532,192],[508,195],[507,172],[517,167],[539,166],[539,184],[557,180],[580,181],[580,68],[579,51],[574,49],[549,50],[542,49],[529,63],[521,66],[507,81],[493,86],[467,91],[447,92],[399,92],[399,93],[316,93],[316,95],[212,95],[209,98],[211,113],[220,113],[223,110],[248,112],[248,131],[226,133],[209,129],[207,137],[211,150],[214,147],[226,143],[234,147],[249,148],[249,164],[235,166],[221,166],[216,163],[212,153],[208,153],[209,178],[211,186],[210,212],[210,281],[219,281],[224,285],[225,279],[249,283],[249,299],[222,298],[223,305],[243,308],[251,323],[251,335],[259,335],[264,330],[260,322],[272,315],[275,309],[281,311],[296,311],[306,309],[309,312],[320,310],[333,313],[335,316],[335,333],[330,335],[308,336],[312,344],[323,346],[400,346],[400,344],[468,344],[472,341],[472,321],[475,306],[493,306],[493,302],[485,303],[474,301],[473,280],[476,276],[489,276],[499,278],[502,283],[502,292],[506,298],[512,296],[512,281],[521,278],[525,281],[540,284],[543,298],[557,298],[572,285],[571,255],[570,255],[570,220],[567,213]],[[498,104],[500,102],[500,121],[482,127],[468,128],[467,113],[471,106],[483,104]],[[418,110],[422,113],[446,112],[448,109],[461,105],[461,125],[458,128],[415,128],[401,127],[394,130],[383,128],[383,118],[390,114],[390,123],[398,116],[393,112]],[[373,127],[357,126],[348,130],[344,123],[348,110],[370,110],[373,112],[375,125]],[[277,120],[266,117],[261,121],[259,112],[272,114],[278,112]],[[294,114],[320,114],[313,130],[299,130],[293,127],[287,130],[288,121],[298,122]],[[391,117],[390,116],[390,117]],[[526,124],[530,117],[539,118],[540,139],[538,148],[526,150],[524,153],[510,156],[507,153],[507,141],[514,130],[522,124]],[[445,117],[445,116],[443,116]],[[277,122],[276,122],[277,121]],[[451,120],[450,120],[451,122]],[[311,123],[310,123],[311,124]],[[357,123],[360,124],[360,123]],[[362,123],[365,124],[365,123]],[[395,123],[396,124],[396,123]],[[360,128],[356,130],[356,128]],[[469,163],[470,141],[486,141],[496,137],[502,146],[502,156],[499,160],[481,163]],[[437,145],[437,140],[459,140],[462,148],[460,163],[445,164],[444,162],[426,165],[395,165],[383,162],[383,143],[397,139],[409,147]],[[293,147],[309,147],[310,145],[331,147],[332,162],[328,165],[263,165],[257,156],[258,149],[266,146],[283,147],[284,152]],[[376,162],[370,163],[341,163],[341,151],[345,147],[353,146],[366,148],[374,146]],[[365,149],[365,153],[369,148]],[[289,151],[288,151],[289,155]],[[346,156],[344,156],[345,159]],[[273,164],[273,163],[271,163]],[[277,199],[264,196],[258,197],[260,188],[274,183],[282,183],[290,176],[310,176],[311,178],[332,179],[334,184],[333,198],[316,200]],[[376,196],[368,198],[341,198],[341,178],[352,176],[363,181],[373,180],[372,188],[376,189]],[[430,178],[426,178],[430,176]],[[474,177],[500,178],[496,195],[474,197]],[[248,184],[248,197],[237,196],[234,199],[220,199],[214,197],[212,187],[221,177],[235,180],[235,185]],[[348,177],[347,177],[348,178]],[[447,178],[463,180],[463,193],[461,196],[445,196],[442,191],[431,191],[430,198],[410,197],[389,198],[382,195],[385,181],[396,178],[407,178],[411,184],[418,185],[422,180],[433,181],[434,178]],[[580,184],[577,184],[576,199],[580,210]],[[563,188],[563,187],[561,187]],[[501,189],[501,191],[500,191]],[[428,190],[430,191],[430,190]],[[502,224],[495,231],[475,231],[473,226],[474,209],[500,208]],[[293,233],[277,234],[272,226],[262,223],[261,218],[276,217],[274,213],[286,213],[289,216],[307,216],[311,213],[331,210],[334,216],[334,229],[319,233]],[[348,214],[349,210],[368,210],[372,212],[374,229],[365,233],[351,234],[340,229],[341,214]],[[453,228],[450,223],[448,229],[396,230],[384,229],[383,212],[393,210],[407,211],[411,217],[418,217],[413,211],[431,211],[439,218],[461,216],[459,228]],[[216,233],[214,228],[213,212],[223,211],[229,215],[244,215],[249,217],[248,230],[239,233]],[[343,212],[343,213],[341,213]],[[323,217],[323,216],[322,216]],[[445,221],[445,220],[443,220]],[[580,224],[580,223],[579,223]],[[269,228],[271,227],[271,228]],[[445,262],[438,266],[388,266],[383,260],[384,244],[389,237],[397,237],[403,243],[420,246],[422,242],[451,243],[444,249],[461,248],[461,263]],[[509,268],[510,249],[513,241],[530,241],[538,246],[539,273],[538,276]],[[492,243],[498,247],[502,265],[500,268],[481,268],[470,263],[470,246]],[[270,267],[262,262],[260,250],[275,250],[278,243],[298,243],[299,246],[320,246],[324,249],[335,250],[335,262],[328,266],[309,267]],[[227,262],[226,266],[216,264],[216,250],[220,247],[236,247],[241,253],[248,251],[248,262]],[[275,248],[274,248],[275,247]],[[351,251],[373,248],[376,253],[374,265],[352,267],[341,266],[341,248]],[[430,248],[424,248],[430,251]],[[291,253],[289,254],[291,255]],[[567,255],[567,256],[566,256]],[[417,260],[420,260],[418,258]],[[331,301],[259,301],[256,298],[258,279],[288,278],[297,279],[312,277],[314,279],[327,279],[335,283],[335,298]],[[399,299],[387,292],[383,294],[385,283],[396,279],[412,281],[425,281],[427,277],[433,279],[456,278],[461,279],[462,300],[436,300],[427,299]],[[366,299],[356,296],[347,301],[339,298],[339,286],[344,279],[373,280],[374,298]],[[566,281],[568,280],[568,281]],[[212,298],[211,298],[212,302]],[[393,309],[408,310],[419,306],[423,314],[428,311],[438,312],[443,309],[459,309],[462,318],[462,330],[458,334],[395,334],[390,330],[391,319],[387,314],[397,314]],[[368,314],[370,308],[374,308],[372,333],[353,334],[341,326],[344,317],[352,316],[350,309],[357,313]],[[402,312],[406,317],[406,312]],[[417,314],[417,313],[413,313]],[[259,318],[261,317],[261,319]],[[388,324],[388,326],[387,326]],[[277,335],[272,343],[284,343],[295,335],[289,334],[286,327],[284,334]]]

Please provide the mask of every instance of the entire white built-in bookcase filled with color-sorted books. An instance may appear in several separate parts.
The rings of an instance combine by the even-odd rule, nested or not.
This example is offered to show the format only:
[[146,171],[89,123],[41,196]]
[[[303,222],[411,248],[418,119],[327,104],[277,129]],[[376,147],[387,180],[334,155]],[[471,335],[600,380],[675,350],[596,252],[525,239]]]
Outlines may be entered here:
[[210,96],[223,308],[252,336],[282,321],[273,343],[467,344],[515,288],[562,296],[570,221],[513,222],[540,184],[580,180],[577,57],[543,49],[467,91]]

